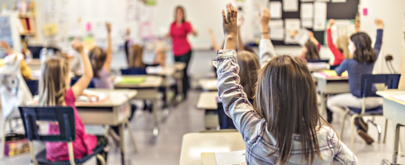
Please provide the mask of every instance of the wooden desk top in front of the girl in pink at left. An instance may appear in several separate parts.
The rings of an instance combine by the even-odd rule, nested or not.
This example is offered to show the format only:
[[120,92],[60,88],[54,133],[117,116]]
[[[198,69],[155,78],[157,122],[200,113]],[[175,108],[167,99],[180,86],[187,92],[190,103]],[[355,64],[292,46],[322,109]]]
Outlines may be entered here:
[[90,91],[96,91],[106,94],[107,100],[104,100],[100,104],[92,104],[89,102],[76,102],[76,107],[118,107],[128,102],[128,100],[134,98],[137,95],[136,90],[130,89],[89,89]]

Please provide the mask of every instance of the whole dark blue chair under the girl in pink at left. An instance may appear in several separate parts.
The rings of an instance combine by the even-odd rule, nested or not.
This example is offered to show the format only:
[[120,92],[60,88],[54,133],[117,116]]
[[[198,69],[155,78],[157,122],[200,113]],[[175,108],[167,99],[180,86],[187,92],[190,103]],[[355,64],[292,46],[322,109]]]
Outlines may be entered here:
[[[19,107],[19,110],[24,124],[25,137],[29,140],[32,162],[35,165],[83,164],[93,156],[96,156],[102,164],[105,164],[104,158],[99,154],[103,151],[104,146],[97,146],[91,155],[86,155],[81,159],[74,159],[72,142],[76,139],[76,126],[75,115],[72,107]],[[60,135],[39,135],[37,123],[40,121],[58,122]],[[46,149],[35,155],[34,144],[32,143],[33,140],[41,142],[67,142],[69,161],[49,161],[46,158]]]

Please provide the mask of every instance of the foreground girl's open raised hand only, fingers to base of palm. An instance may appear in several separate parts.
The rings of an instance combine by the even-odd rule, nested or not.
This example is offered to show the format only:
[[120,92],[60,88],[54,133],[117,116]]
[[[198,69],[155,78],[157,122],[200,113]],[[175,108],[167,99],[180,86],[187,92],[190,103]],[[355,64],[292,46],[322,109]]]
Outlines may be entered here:
[[238,34],[238,11],[233,7],[232,3],[227,4],[227,12],[222,10],[222,28],[226,38],[235,38]]

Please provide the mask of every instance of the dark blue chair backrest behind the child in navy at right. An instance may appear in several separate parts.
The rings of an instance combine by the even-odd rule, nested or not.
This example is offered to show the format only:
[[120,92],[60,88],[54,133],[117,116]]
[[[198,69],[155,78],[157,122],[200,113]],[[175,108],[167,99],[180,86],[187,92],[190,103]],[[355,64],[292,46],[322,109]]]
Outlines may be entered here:
[[388,89],[397,89],[401,74],[362,74],[362,97],[380,97],[375,94],[374,84],[384,84]]

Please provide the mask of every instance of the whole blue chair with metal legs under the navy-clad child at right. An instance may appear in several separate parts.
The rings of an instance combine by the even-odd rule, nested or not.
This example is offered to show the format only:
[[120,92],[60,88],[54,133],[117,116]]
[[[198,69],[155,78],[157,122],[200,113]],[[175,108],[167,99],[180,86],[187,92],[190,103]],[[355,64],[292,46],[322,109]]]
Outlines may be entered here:
[[[354,107],[347,107],[345,114],[343,115],[343,122],[342,122],[342,132],[340,133],[340,137],[343,137],[343,131],[345,130],[345,120],[346,116],[349,114],[351,115],[351,148],[354,150],[354,120],[356,118],[361,118],[362,116],[373,116],[373,120],[369,120],[367,122],[371,122],[374,126],[378,129],[378,142],[380,142],[381,136],[381,126],[375,123],[375,116],[382,116],[383,110],[382,105],[380,107],[374,109],[366,109],[365,103],[367,97],[380,97],[375,94],[375,90],[373,90],[374,84],[383,83],[388,89],[397,89],[398,83],[400,81],[400,74],[362,74],[361,76],[361,95],[362,95],[362,108],[357,109]],[[385,143],[386,139],[386,126],[388,120],[385,120],[385,130],[384,130],[384,140]]]

